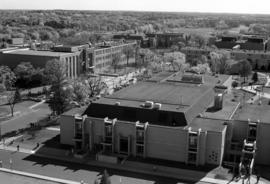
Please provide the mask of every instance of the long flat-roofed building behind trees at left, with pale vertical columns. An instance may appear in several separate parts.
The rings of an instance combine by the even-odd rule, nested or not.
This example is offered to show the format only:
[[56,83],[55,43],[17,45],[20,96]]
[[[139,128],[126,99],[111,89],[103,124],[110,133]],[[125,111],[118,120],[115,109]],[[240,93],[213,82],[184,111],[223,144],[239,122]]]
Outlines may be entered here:
[[[135,52],[136,42],[104,42],[80,46],[55,46],[51,50],[30,50],[29,48],[9,48],[0,50],[0,65],[14,69],[22,62],[30,62],[35,68],[44,68],[50,60],[60,60],[66,66],[67,76],[76,78],[85,72],[102,72],[112,65],[114,54],[120,54],[119,65],[126,63],[124,49],[130,47]],[[134,54],[129,63],[135,62]]]

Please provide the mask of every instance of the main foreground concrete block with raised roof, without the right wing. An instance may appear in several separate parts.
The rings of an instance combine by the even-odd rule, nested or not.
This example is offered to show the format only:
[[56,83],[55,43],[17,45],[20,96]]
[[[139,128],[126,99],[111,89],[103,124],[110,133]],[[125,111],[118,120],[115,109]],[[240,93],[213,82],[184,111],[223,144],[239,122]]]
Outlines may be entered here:
[[[224,75],[173,74],[138,83],[94,101],[79,114],[63,114],[61,143],[110,161],[135,156],[220,165],[228,130],[224,122],[231,116],[222,99],[231,81]],[[228,115],[223,120],[204,117],[209,106]]]

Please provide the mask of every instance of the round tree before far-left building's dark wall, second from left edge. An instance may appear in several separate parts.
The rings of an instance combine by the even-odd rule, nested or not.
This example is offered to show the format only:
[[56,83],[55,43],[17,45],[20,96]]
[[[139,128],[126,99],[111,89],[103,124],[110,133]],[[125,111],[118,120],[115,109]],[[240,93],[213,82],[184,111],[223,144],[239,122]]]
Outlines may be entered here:
[[31,77],[34,74],[35,69],[30,62],[22,62],[15,69],[17,81],[16,86],[20,88],[29,88],[31,83]]

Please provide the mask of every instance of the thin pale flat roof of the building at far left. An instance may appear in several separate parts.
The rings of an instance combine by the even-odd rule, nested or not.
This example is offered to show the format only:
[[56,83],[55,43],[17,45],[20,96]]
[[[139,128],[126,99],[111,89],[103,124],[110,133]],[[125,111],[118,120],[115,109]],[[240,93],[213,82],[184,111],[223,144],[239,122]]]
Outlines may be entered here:
[[72,54],[72,52],[36,51],[36,50],[14,50],[5,54],[32,55],[32,56],[51,56],[60,57]]

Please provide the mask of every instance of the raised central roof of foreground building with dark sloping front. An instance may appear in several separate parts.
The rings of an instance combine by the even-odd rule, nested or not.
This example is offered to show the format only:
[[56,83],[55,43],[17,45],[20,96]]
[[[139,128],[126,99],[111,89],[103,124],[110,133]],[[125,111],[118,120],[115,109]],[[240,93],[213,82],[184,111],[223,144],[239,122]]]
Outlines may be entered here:
[[[186,126],[207,109],[213,97],[214,90],[208,86],[141,82],[94,101],[85,114],[164,126]],[[161,107],[146,108],[143,106],[146,101],[160,103]]]

